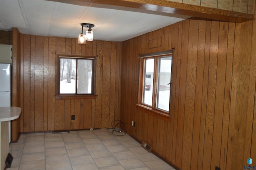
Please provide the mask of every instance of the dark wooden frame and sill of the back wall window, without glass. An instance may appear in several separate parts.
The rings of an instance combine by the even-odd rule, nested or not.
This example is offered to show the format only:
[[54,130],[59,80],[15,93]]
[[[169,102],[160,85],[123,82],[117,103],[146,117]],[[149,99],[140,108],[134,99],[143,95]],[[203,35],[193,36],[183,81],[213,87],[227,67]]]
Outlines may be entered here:
[[[60,94],[60,59],[70,58],[75,59],[76,63],[79,59],[92,60],[92,93],[90,94]],[[96,99],[96,58],[97,56],[76,56],[76,55],[62,55],[56,54],[56,95],[55,99]],[[76,65],[76,72],[77,72]],[[77,88],[77,84],[76,84]]]

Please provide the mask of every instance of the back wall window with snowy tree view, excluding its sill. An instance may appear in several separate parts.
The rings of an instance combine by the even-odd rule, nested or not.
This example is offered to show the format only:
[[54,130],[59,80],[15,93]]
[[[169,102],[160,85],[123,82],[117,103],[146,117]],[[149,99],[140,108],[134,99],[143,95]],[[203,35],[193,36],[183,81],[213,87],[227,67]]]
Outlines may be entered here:
[[57,95],[94,95],[95,57],[57,56]]

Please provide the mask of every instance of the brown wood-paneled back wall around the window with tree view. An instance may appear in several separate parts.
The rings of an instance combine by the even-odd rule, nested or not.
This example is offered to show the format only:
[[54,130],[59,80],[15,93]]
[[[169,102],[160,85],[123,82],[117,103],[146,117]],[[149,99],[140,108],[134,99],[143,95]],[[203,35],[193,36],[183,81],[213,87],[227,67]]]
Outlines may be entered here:
[[[109,128],[120,118],[121,51],[122,42],[21,34],[20,132]],[[96,99],[54,98],[56,54],[98,56]]]

